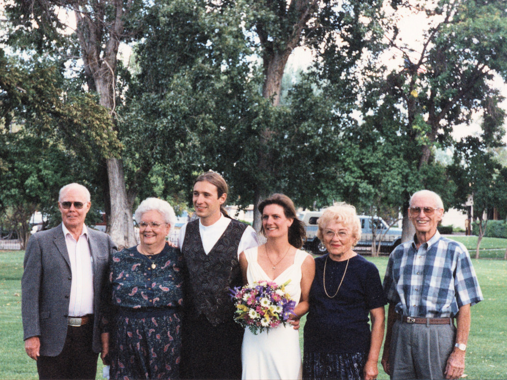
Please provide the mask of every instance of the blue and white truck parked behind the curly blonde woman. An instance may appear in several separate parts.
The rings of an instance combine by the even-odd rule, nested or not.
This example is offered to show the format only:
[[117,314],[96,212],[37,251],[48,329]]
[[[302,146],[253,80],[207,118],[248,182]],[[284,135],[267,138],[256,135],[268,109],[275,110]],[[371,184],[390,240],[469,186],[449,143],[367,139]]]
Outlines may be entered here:
[[[299,218],[306,226],[306,242],[304,248],[314,254],[324,254],[326,249],[317,238],[317,220],[322,215],[322,211],[303,211],[299,213]],[[371,247],[373,232],[372,227],[377,226],[375,236],[376,241],[382,237],[380,250],[390,253],[397,245],[402,242],[402,229],[399,227],[390,227],[379,216],[358,215],[361,221],[361,240],[357,242],[358,247]],[[374,224],[375,223],[375,224]],[[384,235],[385,234],[385,235]]]

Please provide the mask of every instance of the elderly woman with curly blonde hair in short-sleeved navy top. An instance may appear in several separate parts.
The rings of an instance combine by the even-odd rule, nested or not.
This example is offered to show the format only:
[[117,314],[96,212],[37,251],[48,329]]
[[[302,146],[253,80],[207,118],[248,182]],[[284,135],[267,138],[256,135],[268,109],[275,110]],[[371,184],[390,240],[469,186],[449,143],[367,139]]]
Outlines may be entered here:
[[303,378],[370,380],[378,375],[386,300],[375,265],[352,250],[360,235],[354,206],[330,207],[318,220],[317,237],[329,253],[315,259]]

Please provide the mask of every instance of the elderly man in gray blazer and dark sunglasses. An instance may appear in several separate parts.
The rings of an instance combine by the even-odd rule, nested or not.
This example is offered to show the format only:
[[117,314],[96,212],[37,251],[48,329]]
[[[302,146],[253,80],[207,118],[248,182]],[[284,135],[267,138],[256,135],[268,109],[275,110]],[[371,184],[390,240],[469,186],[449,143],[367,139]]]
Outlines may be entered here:
[[30,237],[21,279],[25,350],[39,378],[94,379],[101,351],[100,298],[111,238],[84,224],[90,193],[78,183],[60,189],[62,223]]

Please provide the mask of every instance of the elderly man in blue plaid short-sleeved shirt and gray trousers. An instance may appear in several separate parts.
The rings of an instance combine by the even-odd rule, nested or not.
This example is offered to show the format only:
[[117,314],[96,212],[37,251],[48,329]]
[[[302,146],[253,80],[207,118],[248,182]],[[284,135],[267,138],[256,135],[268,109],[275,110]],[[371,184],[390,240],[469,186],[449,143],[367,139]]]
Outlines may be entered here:
[[382,366],[391,379],[459,378],[470,306],[483,299],[481,288],[466,248],[437,231],[441,198],[422,190],[408,211],[414,240],[394,249],[384,278],[389,309]]

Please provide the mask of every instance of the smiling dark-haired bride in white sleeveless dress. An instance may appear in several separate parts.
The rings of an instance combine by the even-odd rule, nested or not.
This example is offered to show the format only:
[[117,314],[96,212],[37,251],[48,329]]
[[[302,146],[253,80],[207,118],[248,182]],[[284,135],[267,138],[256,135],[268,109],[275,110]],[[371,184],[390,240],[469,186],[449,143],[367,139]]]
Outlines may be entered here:
[[245,329],[241,362],[243,379],[302,378],[299,319],[308,312],[308,294],[315,274],[313,257],[300,250],[305,227],[296,216],[294,203],[283,194],[274,194],[259,205],[266,244],[250,248],[239,256],[243,281],[291,280],[285,291],[297,302],[291,324],[271,328],[257,335]]

